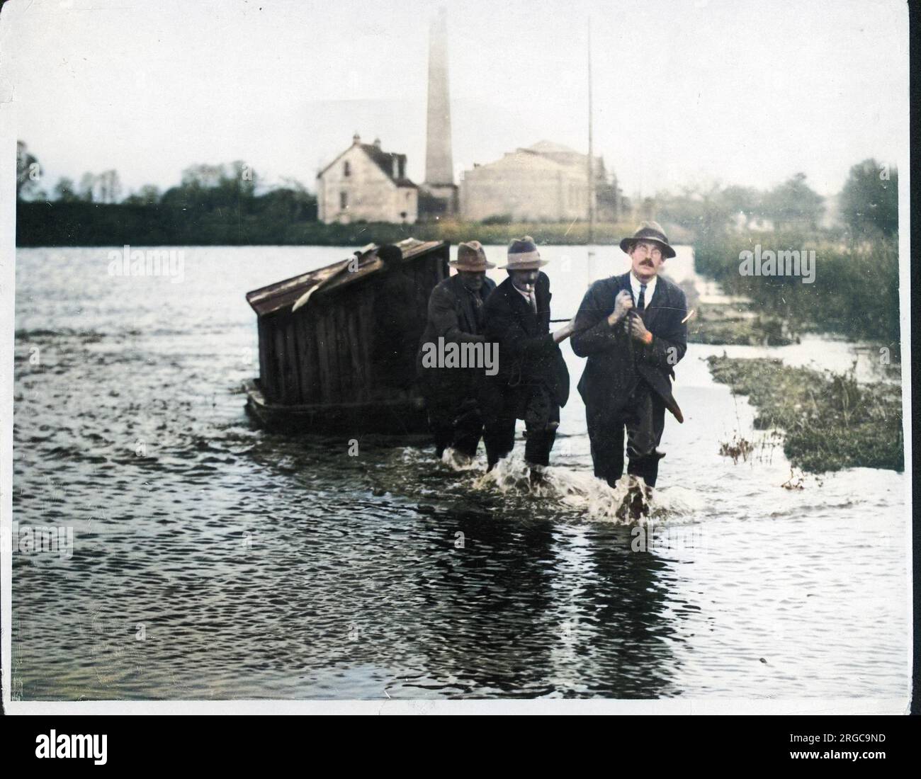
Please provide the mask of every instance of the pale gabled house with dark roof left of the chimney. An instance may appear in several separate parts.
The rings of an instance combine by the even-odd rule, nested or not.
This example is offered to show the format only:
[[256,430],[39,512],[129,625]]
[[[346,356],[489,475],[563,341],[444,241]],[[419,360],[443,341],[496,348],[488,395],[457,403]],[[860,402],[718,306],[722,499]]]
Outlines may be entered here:
[[380,141],[352,145],[317,174],[321,222],[405,222],[419,213],[419,191],[406,178],[406,155],[385,152]]

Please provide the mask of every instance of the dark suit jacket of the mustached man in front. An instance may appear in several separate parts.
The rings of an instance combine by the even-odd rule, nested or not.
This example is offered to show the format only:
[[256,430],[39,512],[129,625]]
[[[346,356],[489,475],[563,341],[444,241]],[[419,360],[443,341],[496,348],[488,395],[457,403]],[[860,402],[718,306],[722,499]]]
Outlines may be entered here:
[[630,290],[629,272],[595,282],[582,298],[572,347],[589,361],[578,383],[579,393],[589,412],[598,407],[616,411],[627,401],[637,380],[643,378],[683,422],[682,411],[671,394],[671,378],[675,364],[687,350],[687,325],[682,324],[687,316],[684,293],[659,276],[643,316],[646,329],[653,335],[647,346],[630,337],[623,320],[613,328],[608,324],[614,298],[622,289]]

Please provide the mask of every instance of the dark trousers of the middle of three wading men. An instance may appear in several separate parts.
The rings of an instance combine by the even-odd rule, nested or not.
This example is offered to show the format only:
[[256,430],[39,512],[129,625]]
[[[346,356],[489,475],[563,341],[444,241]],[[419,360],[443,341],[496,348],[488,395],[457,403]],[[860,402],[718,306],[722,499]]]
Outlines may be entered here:
[[483,440],[490,467],[515,447],[515,421],[525,424],[524,459],[529,465],[549,465],[560,406],[540,385],[487,387],[483,393]]

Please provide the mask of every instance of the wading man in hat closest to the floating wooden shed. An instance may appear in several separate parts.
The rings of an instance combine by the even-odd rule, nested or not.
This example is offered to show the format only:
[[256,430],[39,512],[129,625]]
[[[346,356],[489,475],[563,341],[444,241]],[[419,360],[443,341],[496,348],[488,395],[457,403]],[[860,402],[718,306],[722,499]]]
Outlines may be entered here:
[[495,289],[486,270],[479,241],[461,243],[457,260],[449,262],[455,275],[440,282],[428,298],[428,320],[416,355],[416,374],[426,397],[428,423],[440,459],[446,448],[472,458],[483,434],[483,417],[477,397],[483,367],[424,367],[423,350],[439,338],[445,343],[483,343],[484,301]]

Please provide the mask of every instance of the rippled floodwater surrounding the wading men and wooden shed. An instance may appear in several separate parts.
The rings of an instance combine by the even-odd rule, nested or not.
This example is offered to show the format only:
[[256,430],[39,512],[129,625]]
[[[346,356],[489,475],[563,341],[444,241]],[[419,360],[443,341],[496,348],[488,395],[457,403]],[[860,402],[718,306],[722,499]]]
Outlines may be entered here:
[[[787,489],[776,438],[704,361],[802,364],[811,344],[843,370],[852,344],[691,345],[654,516],[625,525],[591,476],[568,345],[537,494],[520,442],[487,476],[482,448],[459,470],[358,432],[353,457],[345,436],[252,429],[244,293],[348,253],[186,248],[174,283],[110,275],[109,250],[17,251],[13,519],[73,544],[13,554],[14,698],[905,699],[905,475]],[[623,273],[613,253],[591,274]],[[544,254],[571,316],[586,249]],[[719,456],[733,435],[758,442],[747,461]]]

